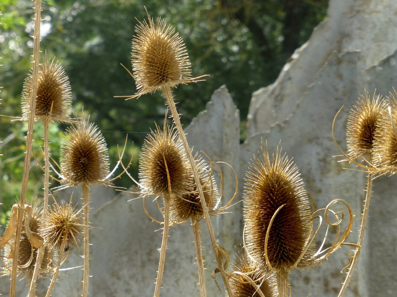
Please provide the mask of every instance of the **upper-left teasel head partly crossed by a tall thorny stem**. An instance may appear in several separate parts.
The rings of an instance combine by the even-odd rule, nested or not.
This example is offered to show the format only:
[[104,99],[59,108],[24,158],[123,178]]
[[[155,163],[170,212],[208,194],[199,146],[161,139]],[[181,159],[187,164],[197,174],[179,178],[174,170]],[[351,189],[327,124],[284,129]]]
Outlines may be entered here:
[[[22,117],[29,118],[32,72],[26,77],[22,91]],[[71,111],[71,89],[69,79],[61,64],[54,59],[39,65],[35,118],[65,121]]]

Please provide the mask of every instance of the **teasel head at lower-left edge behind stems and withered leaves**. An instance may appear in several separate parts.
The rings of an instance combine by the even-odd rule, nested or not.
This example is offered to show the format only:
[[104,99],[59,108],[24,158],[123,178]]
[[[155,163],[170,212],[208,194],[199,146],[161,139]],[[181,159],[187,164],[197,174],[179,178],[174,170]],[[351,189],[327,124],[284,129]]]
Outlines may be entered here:
[[[32,212],[29,220],[29,228],[31,232],[40,233],[42,228],[42,205],[39,205],[37,201],[32,204]],[[14,236],[9,241],[10,245],[14,245]],[[18,252],[18,273],[26,275],[29,279],[33,275],[34,267],[36,264],[37,248],[32,247],[30,244],[27,234],[25,232],[25,219],[22,221],[21,237],[19,242],[19,252]],[[8,245],[4,246],[4,254],[9,254],[10,247]],[[49,273],[52,270],[52,260],[53,254],[50,254],[49,249],[45,247],[44,257],[40,267],[40,273]],[[5,275],[11,274],[13,258],[4,258],[5,269],[2,271]]]

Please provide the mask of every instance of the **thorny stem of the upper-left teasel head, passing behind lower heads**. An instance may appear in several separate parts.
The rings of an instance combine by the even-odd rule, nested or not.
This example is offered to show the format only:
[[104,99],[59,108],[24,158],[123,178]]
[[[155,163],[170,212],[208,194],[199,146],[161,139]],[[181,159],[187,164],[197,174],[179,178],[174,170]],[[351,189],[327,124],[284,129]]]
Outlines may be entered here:
[[[49,183],[50,183],[50,149],[48,147],[48,129],[49,129],[49,120],[47,117],[43,119],[43,125],[44,125],[44,206],[43,206],[43,219],[47,216],[47,210],[48,210],[48,196],[49,196]],[[36,259],[36,265],[34,267],[33,271],[33,276],[32,280],[30,282],[30,288],[29,288],[29,297],[34,296],[34,292],[36,291],[36,280],[37,276],[39,275],[39,270],[41,267],[41,262],[43,261],[44,257],[44,250],[45,248],[40,248],[37,251],[37,259]]]

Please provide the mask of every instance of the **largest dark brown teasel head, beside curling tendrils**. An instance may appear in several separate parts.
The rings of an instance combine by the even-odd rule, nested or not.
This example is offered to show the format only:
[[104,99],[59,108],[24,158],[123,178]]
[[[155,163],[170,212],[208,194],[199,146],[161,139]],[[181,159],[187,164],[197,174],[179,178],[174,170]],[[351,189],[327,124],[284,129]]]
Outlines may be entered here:
[[[310,202],[298,168],[285,154],[281,156],[281,148],[277,147],[271,161],[263,145],[262,151],[261,159],[254,156],[244,186],[246,251],[259,269],[266,269],[265,252],[274,269],[288,269],[298,260],[312,232]],[[270,220],[283,204],[271,225],[265,250]],[[300,263],[305,263],[311,251]]]

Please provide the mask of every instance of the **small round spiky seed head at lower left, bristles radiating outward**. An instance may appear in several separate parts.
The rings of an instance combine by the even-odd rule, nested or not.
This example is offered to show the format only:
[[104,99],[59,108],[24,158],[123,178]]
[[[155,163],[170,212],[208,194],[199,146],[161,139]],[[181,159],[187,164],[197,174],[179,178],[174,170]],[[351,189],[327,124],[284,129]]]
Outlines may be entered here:
[[84,232],[84,216],[75,208],[70,203],[55,203],[49,207],[40,233],[46,247],[60,249],[64,239],[65,248],[77,246]]

